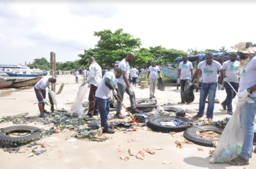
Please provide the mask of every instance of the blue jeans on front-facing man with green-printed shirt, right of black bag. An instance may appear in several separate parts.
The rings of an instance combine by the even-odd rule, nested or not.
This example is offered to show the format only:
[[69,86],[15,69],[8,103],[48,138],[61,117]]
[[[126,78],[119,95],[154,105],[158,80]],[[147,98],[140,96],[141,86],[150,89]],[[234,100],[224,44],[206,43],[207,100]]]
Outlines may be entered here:
[[199,99],[199,112],[198,115],[204,115],[205,101],[208,98],[208,106],[207,106],[207,114],[206,118],[212,119],[214,117],[214,103],[215,103],[215,95],[217,89],[217,82],[215,83],[202,83],[200,89],[200,99]]

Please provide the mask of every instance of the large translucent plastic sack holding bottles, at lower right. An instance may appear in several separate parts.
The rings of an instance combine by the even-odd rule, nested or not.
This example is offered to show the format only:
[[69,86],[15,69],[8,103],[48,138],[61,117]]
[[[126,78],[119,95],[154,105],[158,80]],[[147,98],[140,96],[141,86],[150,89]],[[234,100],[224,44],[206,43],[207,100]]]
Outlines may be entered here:
[[211,156],[210,163],[226,163],[232,159],[237,158],[241,154],[244,138],[241,127],[240,115],[241,107],[246,102],[253,103],[253,100],[247,97],[245,99],[239,98],[236,101],[236,110],[234,111],[232,117],[228,121],[226,127],[224,128],[221,134],[214,154],[212,154]]

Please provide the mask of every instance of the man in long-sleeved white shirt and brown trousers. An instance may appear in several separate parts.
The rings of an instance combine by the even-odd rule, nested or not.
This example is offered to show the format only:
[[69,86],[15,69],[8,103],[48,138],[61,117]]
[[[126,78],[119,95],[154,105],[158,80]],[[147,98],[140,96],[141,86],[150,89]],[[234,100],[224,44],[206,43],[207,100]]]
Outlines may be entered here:
[[88,110],[87,116],[89,116],[90,118],[93,118],[93,116],[99,115],[95,93],[102,79],[102,69],[99,66],[99,64],[96,63],[94,57],[89,58],[89,63],[91,64],[89,67],[89,70],[90,70],[89,75],[86,81],[84,81],[81,86],[84,86],[86,85],[86,83],[88,83],[88,87],[90,88],[89,110]]

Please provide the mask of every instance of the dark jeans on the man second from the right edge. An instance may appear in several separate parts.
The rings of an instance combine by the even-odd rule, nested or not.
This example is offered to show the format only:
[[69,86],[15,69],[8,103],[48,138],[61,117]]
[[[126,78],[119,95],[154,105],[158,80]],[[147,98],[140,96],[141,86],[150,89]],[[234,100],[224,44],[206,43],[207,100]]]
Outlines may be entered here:
[[[238,92],[238,83],[229,82],[230,85]],[[227,93],[226,99],[222,102],[223,106],[227,106],[228,111],[232,111],[232,99],[237,96],[237,94],[233,91],[233,89],[228,85],[227,82],[224,81],[224,87]]]

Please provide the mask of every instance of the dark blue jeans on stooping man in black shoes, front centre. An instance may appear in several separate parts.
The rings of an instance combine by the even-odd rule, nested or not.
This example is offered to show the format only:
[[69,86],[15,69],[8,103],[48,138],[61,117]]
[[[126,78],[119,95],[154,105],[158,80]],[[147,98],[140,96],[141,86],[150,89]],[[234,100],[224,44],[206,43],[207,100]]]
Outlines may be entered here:
[[109,126],[108,115],[110,113],[110,100],[96,97],[96,101],[99,109],[101,126]]

